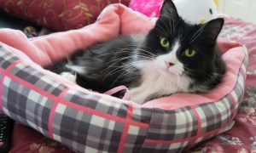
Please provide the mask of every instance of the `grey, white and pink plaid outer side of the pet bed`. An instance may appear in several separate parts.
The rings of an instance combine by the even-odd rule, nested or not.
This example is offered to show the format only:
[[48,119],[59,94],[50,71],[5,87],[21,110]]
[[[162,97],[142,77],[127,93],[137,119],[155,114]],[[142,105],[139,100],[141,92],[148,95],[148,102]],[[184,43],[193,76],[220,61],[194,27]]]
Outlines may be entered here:
[[224,129],[244,92],[247,54],[236,87],[214,103],[143,108],[68,88],[0,48],[0,109],[77,152],[183,152]]

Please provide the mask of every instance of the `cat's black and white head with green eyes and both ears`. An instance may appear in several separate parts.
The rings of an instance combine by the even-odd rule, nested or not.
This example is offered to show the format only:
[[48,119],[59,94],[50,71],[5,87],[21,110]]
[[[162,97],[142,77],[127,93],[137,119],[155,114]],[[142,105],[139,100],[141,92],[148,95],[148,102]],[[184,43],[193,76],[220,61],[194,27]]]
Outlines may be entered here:
[[144,61],[138,67],[148,66],[166,76],[186,75],[194,80],[205,79],[202,74],[215,75],[216,59],[220,58],[216,41],[223,25],[220,18],[191,25],[177,14],[172,0],[165,0],[159,19],[137,54],[137,59]]

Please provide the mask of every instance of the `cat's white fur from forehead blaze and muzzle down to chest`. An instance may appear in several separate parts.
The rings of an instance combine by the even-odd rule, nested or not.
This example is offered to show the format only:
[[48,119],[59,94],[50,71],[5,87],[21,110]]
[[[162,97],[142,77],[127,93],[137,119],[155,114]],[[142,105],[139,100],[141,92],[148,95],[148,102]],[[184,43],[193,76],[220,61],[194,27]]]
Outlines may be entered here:
[[[134,65],[143,72],[143,82],[137,88],[130,88],[131,99],[143,104],[152,95],[162,96],[176,92],[189,91],[189,79],[183,75],[183,64],[178,61],[176,53],[180,42],[176,42],[168,54],[154,60],[140,60]],[[168,67],[166,62],[173,65]]]

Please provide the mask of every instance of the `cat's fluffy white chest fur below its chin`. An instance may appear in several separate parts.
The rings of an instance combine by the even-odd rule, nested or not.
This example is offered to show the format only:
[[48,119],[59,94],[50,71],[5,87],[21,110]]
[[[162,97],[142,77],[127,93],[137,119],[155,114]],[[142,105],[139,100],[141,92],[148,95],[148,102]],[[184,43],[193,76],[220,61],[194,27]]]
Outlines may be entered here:
[[143,82],[137,88],[130,88],[131,100],[143,104],[150,97],[189,91],[189,79],[185,76],[167,74],[154,67],[144,69]]

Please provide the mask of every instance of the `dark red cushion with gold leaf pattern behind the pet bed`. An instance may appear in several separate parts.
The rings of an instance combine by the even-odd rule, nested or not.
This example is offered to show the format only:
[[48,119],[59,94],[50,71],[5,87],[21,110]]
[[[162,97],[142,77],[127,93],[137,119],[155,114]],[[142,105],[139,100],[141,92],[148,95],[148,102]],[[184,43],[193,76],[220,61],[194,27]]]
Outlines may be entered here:
[[109,3],[128,5],[129,2],[130,0],[8,0],[0,1],[0,8],[39,26],[66,31],[95,22],[102,9]]

